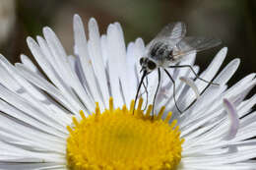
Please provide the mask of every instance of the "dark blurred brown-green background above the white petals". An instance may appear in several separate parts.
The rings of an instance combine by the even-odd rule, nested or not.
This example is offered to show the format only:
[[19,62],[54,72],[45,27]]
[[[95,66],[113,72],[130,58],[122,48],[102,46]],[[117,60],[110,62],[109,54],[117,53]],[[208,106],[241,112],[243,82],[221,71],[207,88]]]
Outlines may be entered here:
[[230,85],[256,71],[255,0],[0,0],[0,53],[12,63],[21,53],[31,56],[26,37],[41,34],[44,26],[53,28],[72,53],[75,13],[85,23],[95,17],[101,32],[118,21],[126,42],[140,36],[147,43],[164,25],[183,21],[189,35],[223,40],[222,46],[198,54],[201,70],[227,46],[225,64],[235,57],[242,59]]

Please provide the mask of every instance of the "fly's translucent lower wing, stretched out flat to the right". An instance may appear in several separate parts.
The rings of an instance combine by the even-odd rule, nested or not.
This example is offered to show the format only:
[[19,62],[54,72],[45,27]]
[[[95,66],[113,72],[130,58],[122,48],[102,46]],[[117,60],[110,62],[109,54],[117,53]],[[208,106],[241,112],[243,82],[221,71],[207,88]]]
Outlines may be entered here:
[[187,36],[180,40],[173,48],[172,56],[178,59],[184,55],[213,48],[222,43],[220,39]]

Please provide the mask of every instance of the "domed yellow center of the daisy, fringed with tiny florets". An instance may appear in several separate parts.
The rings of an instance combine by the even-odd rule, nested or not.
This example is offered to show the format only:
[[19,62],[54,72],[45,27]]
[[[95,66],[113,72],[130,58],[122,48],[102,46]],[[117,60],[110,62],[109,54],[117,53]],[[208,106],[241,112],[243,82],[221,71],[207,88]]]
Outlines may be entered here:
[[175,169],[181,159],[180,132],[176,120],[169,124],[171,113],[161,119],[150,116],[152,105],[146,113],[140,99],[133,112],[134,101],[128,110],[113,108],[96,112],[88,117],[81,111],[81,120],[73,119],[67,129],[67,166],[70,170],[159,170]]

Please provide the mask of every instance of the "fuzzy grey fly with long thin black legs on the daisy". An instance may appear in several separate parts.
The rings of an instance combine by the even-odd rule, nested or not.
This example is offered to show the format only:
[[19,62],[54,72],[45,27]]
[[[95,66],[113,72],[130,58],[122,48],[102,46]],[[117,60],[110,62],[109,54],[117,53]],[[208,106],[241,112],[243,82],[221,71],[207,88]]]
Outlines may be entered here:
[[176,22],[168,24],[167,26],[162,28],[160,32],[157,34],[157,36],[152,41],[150,41],[150,43],[146,46],[145,56],[140,58],[142,77],[136,92],[134,106],[136,105],[136,101],[138,99],[139,91],[142,85],[144,85],[146,89],[148,98],[148,91],[146,85],[144,84],[144,80],[146,78],[146,80],[148,81],[147,76],[154,71],[158,71],[159,83],[157,86],[157,91],[154,96],[153,112],[158,90],[160,88],[160,72],[162,70],[167,75],[169,80],[172,82],[175,107],[180,113],[186,111],[193,103],[191,103],[183,111],[179,109],[175,98],[175,82],[166,69],[189,68],[195,75],[196,79],[199,79],[209,85],[218,85],[214,84],[213,82],[208,82],[204,79],[201,79],[190,65],[178,64],[181,60],[185,59],[185,56],[188,56],[188,54],[218,46],[222,43],[222,41],[216,38],[185,36],[185,34],[186,25],[184,23]]

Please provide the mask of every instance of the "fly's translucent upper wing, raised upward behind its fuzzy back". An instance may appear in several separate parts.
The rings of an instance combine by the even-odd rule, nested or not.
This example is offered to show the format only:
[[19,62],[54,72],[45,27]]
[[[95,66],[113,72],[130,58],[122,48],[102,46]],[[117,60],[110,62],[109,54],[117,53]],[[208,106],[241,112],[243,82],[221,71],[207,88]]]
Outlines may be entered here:
[[160,30],[157,36],[147,45],[150,51],[157,43],[165,43],[173,48],[186,34],[186,25],[182,22],[171,23]]

